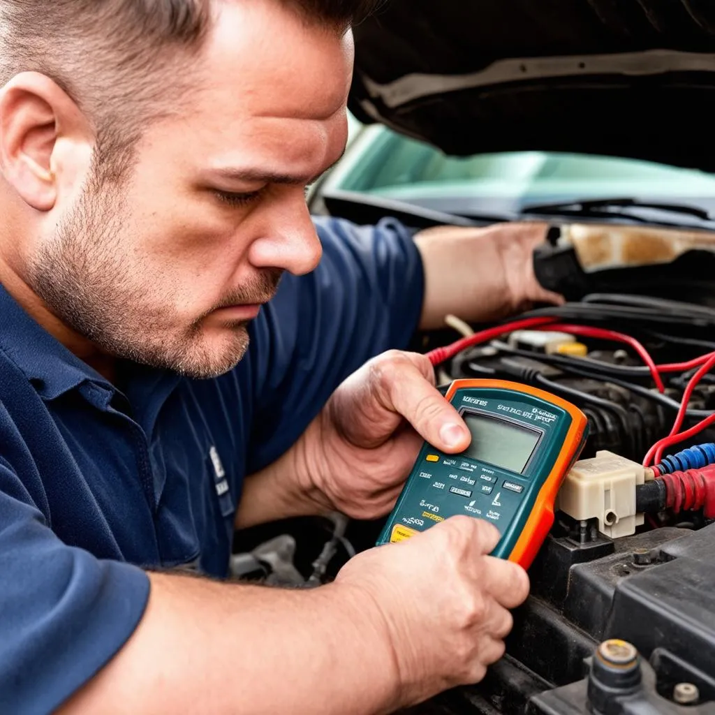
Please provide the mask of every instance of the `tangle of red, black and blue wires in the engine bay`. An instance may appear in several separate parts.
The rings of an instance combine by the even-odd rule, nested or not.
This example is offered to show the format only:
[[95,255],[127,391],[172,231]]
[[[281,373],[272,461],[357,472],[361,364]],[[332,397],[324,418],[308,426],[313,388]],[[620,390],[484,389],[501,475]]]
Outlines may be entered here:
[[[715,378],[710,375],[715,368],[715,342],[699,337],[707,335],[709,328],[715,328],[715,310],[651,297],[608,294],[534,310],[516,320],[506,320],[476,332],[453,316],[448,318],[447,324],[464,337],[428,352],[435,367],[450,361],[455,365],[466,362],[477,373],[498,370],[573,399],[589,420],[598,423],[601,433],[613,430],[626,441],[633,438],[632,453],[640,454],[638,459],[652,477],[636,490],[639,511],[655,513],[671,509],[679,513],[703,509],[705,518],[715,519],[715,443],[692,445],[679,453],[667,454],[674,445],[692,440],[715,425],[714,410],[694,407],[699,385],[713,385],[715,392]],[[664,332],[670,330],[675,334]],[[585,350],[586,354],[582,355],[568,350],[534,352],[506,342],[506,336],[519,331],[563,333],[598,345],[625,346],[630,364],[594,357],[599,355],[598,350]],[[671,358],[681,358],[684,354],[691,357],[656,363],[644,343],[657,345]],[[497,369],[475,359],[475,356],[490,355],[489,351],[499,356]],[[641,365],[636,363],[636,358]],[[626,405],[619,405],[599,395],[598,390],[587,393],[575,387],[563,379],[563,375],[580,379],[581,385],[583,381],[593,380],[601,386],[601,392],[623,390],[631,398],[626,400]],[[681,395],[680,398],[677,395]],[[651,443],[636,443],[633,436],[639,431],[633,428],[634,419],[640,420],[641,432],[649,433],[645,426],[646,415],[639,410],[638,400],[646,400],[670,415],[669,421],[656,425],[656,431],[660,428],[665,431],[670,423],[669,431],[661,432]]]

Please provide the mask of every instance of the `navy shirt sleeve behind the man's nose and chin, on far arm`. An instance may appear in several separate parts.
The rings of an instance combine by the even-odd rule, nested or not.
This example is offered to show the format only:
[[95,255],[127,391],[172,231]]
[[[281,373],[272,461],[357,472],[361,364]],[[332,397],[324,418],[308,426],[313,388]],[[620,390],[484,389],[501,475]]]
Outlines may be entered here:
[[394,219],[375,226],[316,218],[320,265],[285,275],[252,325],[254,419],[247,473],[275,461],[327,398],[370,358],[405,349],[424,295],[413,236]]

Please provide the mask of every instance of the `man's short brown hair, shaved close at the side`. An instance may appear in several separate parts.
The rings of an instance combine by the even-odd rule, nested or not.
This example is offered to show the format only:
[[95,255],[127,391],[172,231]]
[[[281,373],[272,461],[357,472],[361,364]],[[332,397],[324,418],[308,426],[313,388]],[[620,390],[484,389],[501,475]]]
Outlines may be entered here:
[[[382,0],[266,1],[279,1],[310,21],[346,28]],[[94,123],[97,154],[112,164],[112,173],[121,174],[126,161],[117,158],[127,159],[127,149],[147,120],[171,104],[157,102],[165,86],[160,72],[190,76],[190,59],[211,24],[211,4],[0,0],[0,85],[21,71],[39,71],[53,79]],[[176,89],[181,94],[181,87]]]

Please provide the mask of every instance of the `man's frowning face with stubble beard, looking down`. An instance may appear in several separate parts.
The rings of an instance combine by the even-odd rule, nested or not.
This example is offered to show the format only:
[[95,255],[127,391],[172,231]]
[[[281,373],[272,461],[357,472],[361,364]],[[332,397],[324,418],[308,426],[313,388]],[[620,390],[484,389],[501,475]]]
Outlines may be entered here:
[[320,260],[305,186],[345,147],[351,67],[349,35],[277,3],[222,4],[189,109],[149,126],[126,182],[87,183],[29,285],[106,352],[230,370],[281,273]]

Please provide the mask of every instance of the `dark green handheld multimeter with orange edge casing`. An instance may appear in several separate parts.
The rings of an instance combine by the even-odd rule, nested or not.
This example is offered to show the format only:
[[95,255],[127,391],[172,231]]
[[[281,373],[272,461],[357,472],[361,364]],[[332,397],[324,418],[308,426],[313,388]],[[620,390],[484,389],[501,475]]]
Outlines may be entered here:
[[588,438],[586,415],[556,395],[506,380],[455,380],[445,397],[471,443],[458,455],[423,445],[378,546],[465,514],[498,528],[492,556],[528,568],[553,525],[556,493]]

